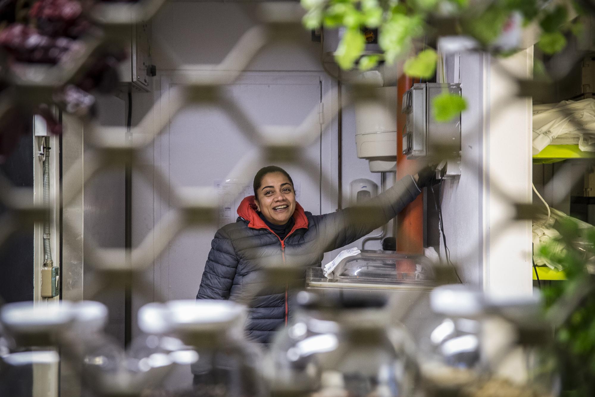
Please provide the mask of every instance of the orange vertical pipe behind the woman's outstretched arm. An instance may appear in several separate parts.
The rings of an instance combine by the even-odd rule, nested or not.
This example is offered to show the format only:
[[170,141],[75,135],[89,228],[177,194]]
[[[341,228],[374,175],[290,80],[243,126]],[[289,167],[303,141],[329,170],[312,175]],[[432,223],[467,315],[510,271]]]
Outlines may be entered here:
[[[403,94],[413,85],[411,77],[402,74],[397,82],[397,180],[408,174],[417,173],[419,166],[415,160],[407,160],[403,155],[403,127],[406,115],[401,113]],[[424,198],[423,192],[397,215],[397,252],[422,254],[424,252]]]

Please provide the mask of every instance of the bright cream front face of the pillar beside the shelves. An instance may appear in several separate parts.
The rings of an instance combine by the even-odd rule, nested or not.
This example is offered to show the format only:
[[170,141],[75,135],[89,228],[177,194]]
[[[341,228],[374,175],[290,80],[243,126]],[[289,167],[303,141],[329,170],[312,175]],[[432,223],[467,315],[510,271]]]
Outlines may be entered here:
[[531,295],[531,221],[510,220],[515,216],[512,202],[527,204],[532,198],[531,98],[516,96],[514,78],[532,76],[533,46],[511,57],[493,60],[489,71],[489,124],[484,130],[487,167],[483,286],[493,295]]

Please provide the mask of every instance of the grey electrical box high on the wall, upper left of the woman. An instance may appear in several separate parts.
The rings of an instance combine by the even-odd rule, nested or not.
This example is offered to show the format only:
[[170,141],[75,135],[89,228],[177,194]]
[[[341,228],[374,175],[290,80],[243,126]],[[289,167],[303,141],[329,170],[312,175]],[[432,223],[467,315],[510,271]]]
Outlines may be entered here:
[[139,92],[151,90],[151,77],[156,73],[151,59],[150,30],[148,23],[123,29],[129,57],[120,63],[120,80]]

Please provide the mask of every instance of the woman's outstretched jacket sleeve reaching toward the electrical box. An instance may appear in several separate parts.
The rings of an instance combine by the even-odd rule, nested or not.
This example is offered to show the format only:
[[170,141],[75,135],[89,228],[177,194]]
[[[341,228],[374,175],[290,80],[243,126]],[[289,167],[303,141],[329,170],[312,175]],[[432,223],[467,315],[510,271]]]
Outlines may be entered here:
[[396,217],[420,192],[413,177],[408,175],[361,205],[320,215],[318,241],[322,250],[333,251],[364,237]]

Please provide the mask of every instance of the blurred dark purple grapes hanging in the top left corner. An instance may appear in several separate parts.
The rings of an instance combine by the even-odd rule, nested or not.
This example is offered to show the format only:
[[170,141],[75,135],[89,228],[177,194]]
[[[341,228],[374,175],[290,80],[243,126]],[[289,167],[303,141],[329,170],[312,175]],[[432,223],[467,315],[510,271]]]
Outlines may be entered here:
[[[17,0],[0,0],[0,49],[7,55],[5,68],[17,72],[27,65],[67,66],[84,49],[84,37],[96,37],[95,26],[84,12],[96,0],[37,0],[27,14],[29,21],[15,22]],[[135,2],[107,0],[107,2]],[[99,32],[101,33],[101,32]],[[93,117],[93,92],[112,92],[120,82],[118,68],[127,57],[120,45],[102,45],[86,60],[82,73],[52,93],[52,101],[63,111],[80,117]],[[42,69],[43,70],[43,69]],[[0,72],[4,67],[0,68]],[[0,91],[2,86],[0,80]],[[52,134],[62,132],[48,104],[15,101],[0,117],[0,162],[15,148],[23,135],[29,135],[34,114],[41,115]]]

